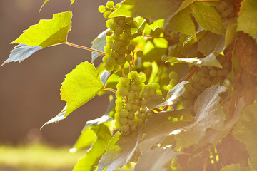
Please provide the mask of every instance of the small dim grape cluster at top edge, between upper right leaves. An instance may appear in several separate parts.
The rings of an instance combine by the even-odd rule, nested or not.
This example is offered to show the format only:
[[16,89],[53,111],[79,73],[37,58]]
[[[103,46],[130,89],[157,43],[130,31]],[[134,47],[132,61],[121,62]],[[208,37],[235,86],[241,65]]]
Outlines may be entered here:
[[236,12],[231,4],[227,1],[221,1],[218,6],[215,7],[218,14],[221,15],[221,19],[225,21],[226,19],[231,19],[236,16]]

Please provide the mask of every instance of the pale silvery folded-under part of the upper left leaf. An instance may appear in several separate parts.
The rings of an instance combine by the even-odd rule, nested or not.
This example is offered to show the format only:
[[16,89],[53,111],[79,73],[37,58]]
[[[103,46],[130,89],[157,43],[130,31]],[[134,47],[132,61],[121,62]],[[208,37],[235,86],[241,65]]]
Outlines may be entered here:
[[11,50],[11,54],[9,58],[7,58],[7,60],[4,61],[4,63],[1,66],[4,66],[5,63],[9,63],[9,62],[24,61],[33,53],[41,49],[42,49],[41,46],[27,46],[25,44],[19,44]]

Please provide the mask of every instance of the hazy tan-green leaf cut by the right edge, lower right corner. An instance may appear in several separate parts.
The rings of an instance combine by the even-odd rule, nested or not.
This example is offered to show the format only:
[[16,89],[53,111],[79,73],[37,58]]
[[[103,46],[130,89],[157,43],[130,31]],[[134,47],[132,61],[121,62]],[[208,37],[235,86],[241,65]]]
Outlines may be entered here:
[[240,142],[246,145],[246,150],[250,155],[250,163],[253,169],[257,170],[257,105],[248,105],[243,109],[243,114],[238,120],[235,128],[233,129],[233,135]]

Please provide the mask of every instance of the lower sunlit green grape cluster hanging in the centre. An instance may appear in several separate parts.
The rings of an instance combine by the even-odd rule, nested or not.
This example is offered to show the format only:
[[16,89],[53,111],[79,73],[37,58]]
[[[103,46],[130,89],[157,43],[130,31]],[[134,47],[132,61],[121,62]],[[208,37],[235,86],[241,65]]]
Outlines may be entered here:
[[[161,94],[158,83],[145,85],[145,81],[144,73],[138,74],[137,71],[131,71],[128,76],[119,78],[119,83],[116,85],[117,99],[114,118],[116,128],[119,128],[123,135],[129,135],[151,115],[141,109],[142,101]],[[135,115],[135,113],[137,114]]]

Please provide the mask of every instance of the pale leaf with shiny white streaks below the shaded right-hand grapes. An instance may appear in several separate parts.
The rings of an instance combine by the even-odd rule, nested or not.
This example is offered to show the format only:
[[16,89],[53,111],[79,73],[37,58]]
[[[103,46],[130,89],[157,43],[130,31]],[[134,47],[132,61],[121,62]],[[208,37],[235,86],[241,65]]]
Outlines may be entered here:
[[194,104],[196,113],[196,122],[181,128],[177,135],[174,135],[176,142],[176,150],[189,147],[198,143],[206,134],[208,128],[221,130],[225,121],[225,113],[223,113],[219,101],[221,98],[219,93],[226,91],[225,86],[213,85],[198,96]]

